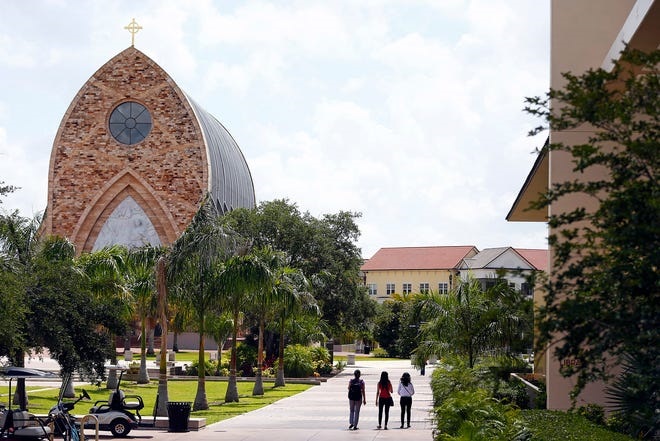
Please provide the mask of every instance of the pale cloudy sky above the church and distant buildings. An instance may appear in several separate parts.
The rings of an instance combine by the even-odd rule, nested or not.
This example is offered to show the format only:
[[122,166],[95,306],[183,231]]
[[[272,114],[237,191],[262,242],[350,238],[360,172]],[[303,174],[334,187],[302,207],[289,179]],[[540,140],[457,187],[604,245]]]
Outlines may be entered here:
[[528,0],[3,3],[4,210],[45,208],[50,151],[75,94],[130,45],[220,120],[258,201],[349,210],[380,247],[545,248],[504,219],[543,136],[522,112],[549,80],[549,2]]

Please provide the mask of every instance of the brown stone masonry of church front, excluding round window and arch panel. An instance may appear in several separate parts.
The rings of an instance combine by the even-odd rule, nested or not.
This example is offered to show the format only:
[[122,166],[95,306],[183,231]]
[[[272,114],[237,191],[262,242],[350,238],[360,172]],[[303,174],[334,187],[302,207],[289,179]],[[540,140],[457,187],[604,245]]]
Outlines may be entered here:
[[[144,105],[152,129],[134,145],[109,132],[112,110],[124,101]],[[117,177],[127,172],[134,179]],[[78,252],[91,249],[119,188],[141,196],[163,243],[188,225],[208,188],[207,158],[200,128],[185,96],[151,59],[128,48],[83,86],[64,116],[49,170],[47,234],[72,238]],[[163,207],[165,213],[163,213]],[[91,217],[90,217],[91,216]],[[92,235],[92,236],[90,236]]]

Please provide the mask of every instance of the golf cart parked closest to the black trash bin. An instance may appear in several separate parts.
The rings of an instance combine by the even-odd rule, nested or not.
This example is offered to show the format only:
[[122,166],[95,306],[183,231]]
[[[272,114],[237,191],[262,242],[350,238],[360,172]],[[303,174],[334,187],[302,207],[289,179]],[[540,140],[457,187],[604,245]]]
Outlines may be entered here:
[[[144,408],[142,397],[139,395],[125,395],[119,388],[121,377],[126,368],[115,367],[119,373],[117,388],[110,392],[107,401],[97,401],[89,410],[99,421],[99,430],[109,430],[117,438],[128,435],[131,429],[136,429],[142,422],[140,410]],[[135,413],[133,413],[135,412]],[[137,417],[136,417],[137,415]],[[93,428],[91,424],[85,424],[85,428]]]

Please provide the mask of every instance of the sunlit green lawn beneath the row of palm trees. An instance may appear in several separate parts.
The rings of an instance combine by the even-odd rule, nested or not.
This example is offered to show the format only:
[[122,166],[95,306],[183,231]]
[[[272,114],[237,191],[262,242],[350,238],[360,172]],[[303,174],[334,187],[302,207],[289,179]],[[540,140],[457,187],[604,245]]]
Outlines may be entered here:
[[[204,411],[192,412],[192,418],[206,418],[206,424],[212,424],[227,418],[240,415],[245,412],[258,409],[271,404],[282,398],[297,394],[312,387],[306,384],[288,384],[285,387],[275,388],[272,383],[264,384],[264,395],[262,397],[252,396],[252,382],[239,382],[238,403],[225,403],[224,397],[227,391],[226,381],[206,381],[206,399],[209,403],[209,409]],[[126,395],[140,395],[144,401],[144,409],[140,412],[142,417],[149,419],[153,415],[153,409],[156,402],[156,393],[158,391],[158,382],[152,381],[147,385],[138,385],[135,382],[122,381],[121,385]],[[76,393],[81,389],[87,390],[91,396],[91,401],[81,401],[76,405],[72,413],[83,415],[98,400],[107,400],[110,391],[96,386],[85,385],[76,387]],[[193,402],[197,392],[197,382],[191,380],[170,380],[167,383],[169,401]],[[7,401],[7,388],[0,388],[0,401]],[[47,414],[48,410],[57,402],[59,388],[38,386],[28,387],[28,409],[35,414]],[[67,400],[68,401],[68,400]],[[130,400],[129,400],[130,401]]]

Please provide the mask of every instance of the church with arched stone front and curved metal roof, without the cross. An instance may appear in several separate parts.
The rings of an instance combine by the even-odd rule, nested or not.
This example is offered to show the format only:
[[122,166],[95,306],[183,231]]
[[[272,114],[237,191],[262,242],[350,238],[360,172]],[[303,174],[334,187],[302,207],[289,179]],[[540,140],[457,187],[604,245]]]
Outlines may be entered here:
[[225,127],[133,46],[103,65],[53,142],[46,234],[78,253],[168,245],[210,194],[221,213],[255,205],[245,158]]

